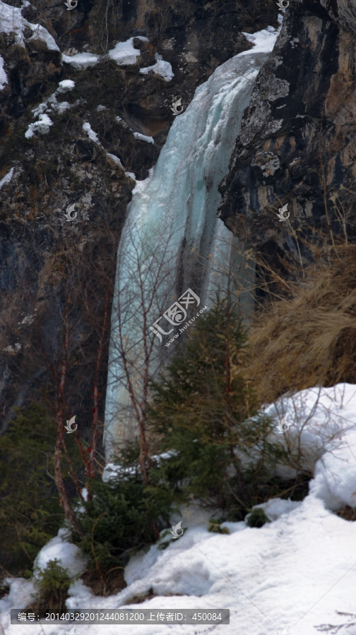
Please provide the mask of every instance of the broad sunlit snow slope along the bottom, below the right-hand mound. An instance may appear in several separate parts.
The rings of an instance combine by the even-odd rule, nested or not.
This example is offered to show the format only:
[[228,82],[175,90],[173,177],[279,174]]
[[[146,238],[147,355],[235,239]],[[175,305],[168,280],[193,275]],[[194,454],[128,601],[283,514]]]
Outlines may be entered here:
[[[286,506],[287,507],[287,506]],[[189,519],[183,521],[189,525]],[[295,509],[261,529],[237,526],[230,536],[208,533],[206,525],[189,526],[182,538],[159,552],[155,547],[126,567],[128,586],[110,598],[93,598],[83,585],[71,588],[69,609],[128,607],[131,610],[230,608],[227,635],[313,635],[321,624],[343,624],[337,611],[355,610],[352,570],[355,529],[307,497]],[[336,540],[338,536],[338,540]],[[355,567],[356,568],[356,567]],[[152,589],[152,591],[150,591]],[[134,596],[153,592],[144,604]],[[19,627],[17,627],[19,628]],[[114,635],[115,627],[87,627],[91,635]],[[182,624],[120,626],[133,635],[184,635],[218,632],[218,627]],[[18,631],[16,631],[18,632]],[[341,631],[355,635],[350,629]]]

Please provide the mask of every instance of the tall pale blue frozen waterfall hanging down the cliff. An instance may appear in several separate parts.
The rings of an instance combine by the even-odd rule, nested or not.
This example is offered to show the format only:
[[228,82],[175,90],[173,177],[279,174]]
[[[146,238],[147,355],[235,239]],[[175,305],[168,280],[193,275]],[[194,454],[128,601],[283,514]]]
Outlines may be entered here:
[[[254,47],[223,63],[197,88],[191,104],[173,122],[150,176],[133,190],[117,256],[105,411],[107,458],[115,443],[136,432],[132,412],[139,406],[129,397],[129,383],[131,393],[143,390],[148,366],[152,374],[174,349],[165,344],[178,337],[182,317],[185,323],[188,313],[195,315],[193,308],[208,306],[214,288],[224,284],[222,270],[231,265],[237,239],[216,217],[218,185],[227,174],[256,75],[278,34],[268,27],[244,35]],[[234,253],[235,269],[243,267],[243,258]],[[193,295],[184,295],[187,289]],[[248,294],[245,304],[251,310]]]

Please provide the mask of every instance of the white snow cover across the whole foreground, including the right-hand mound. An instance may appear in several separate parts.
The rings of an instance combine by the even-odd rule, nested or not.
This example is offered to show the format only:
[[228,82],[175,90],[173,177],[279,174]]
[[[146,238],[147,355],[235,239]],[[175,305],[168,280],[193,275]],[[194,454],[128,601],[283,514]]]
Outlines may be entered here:
[[[266,502],[263,508],[271,523],[249,528],[244,522],[227,522],[230,535],[208,533],[208,514],[196,507],[182,509],[184,535],[172,539],[164,551],[153,545],[145,555],[132,558],[123,591],[95,597],[77,581],[67,600],[69,610],[229,608],[230,625],[85,624],[76,626],[76,635],[218,630],[227,635],[356,635],[356,522],[333,513],[345,504],[356,507],[356,386],[304,390],[265,411],[275,421],[275,440],[293,446],[299,439],[307,461],[314,461],[314,479],[302,502]],[[288,430],[280,434],[282,416],[287,416]],[[173,516],[172,524],[178,520]],[[78,550],[66,542],[63,530],[42,549],[37,564],[44,568],[54,557],[72,574],[81,571]],[[157,597],[130,603],[149,589]],[[25,607],[31,591],[32,583],[15,580],[11,594],[0,600],[6,635],[39,633],[38,625],[9,624],[10,608]],[[45,635],[66,631],[65,624],[42,626]]]

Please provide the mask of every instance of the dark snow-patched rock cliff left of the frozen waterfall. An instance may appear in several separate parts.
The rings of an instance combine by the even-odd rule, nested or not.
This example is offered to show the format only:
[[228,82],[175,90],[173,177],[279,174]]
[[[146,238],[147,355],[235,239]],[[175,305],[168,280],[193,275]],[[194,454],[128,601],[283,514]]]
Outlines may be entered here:
[[[278,8],[272,0],[78,0],[70,11],[54,0],[21,4],[0,7],[0,430],[13,405],[40,398],[55,410],[61,391],[85,437],[95,382],[102,420],[132,173],[144,179],[155,164],[172,102],[186,107],[220,63],[251,47],[242,30],[276,26]],[[107,56],[137,36],[131,63]],[[171,80],[140,73],[158,56]]]

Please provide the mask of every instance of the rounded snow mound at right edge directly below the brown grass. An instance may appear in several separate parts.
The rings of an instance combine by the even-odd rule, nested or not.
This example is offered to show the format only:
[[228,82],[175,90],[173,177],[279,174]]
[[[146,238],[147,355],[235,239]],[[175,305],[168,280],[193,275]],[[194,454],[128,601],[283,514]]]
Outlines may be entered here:
[[285,447],[297,452],[300,444],[302,466],[315,471],[311,493],[334,511],[345,504],[356,507],[356,387],[302,390],[263,411],[277,427],[286,418]]

